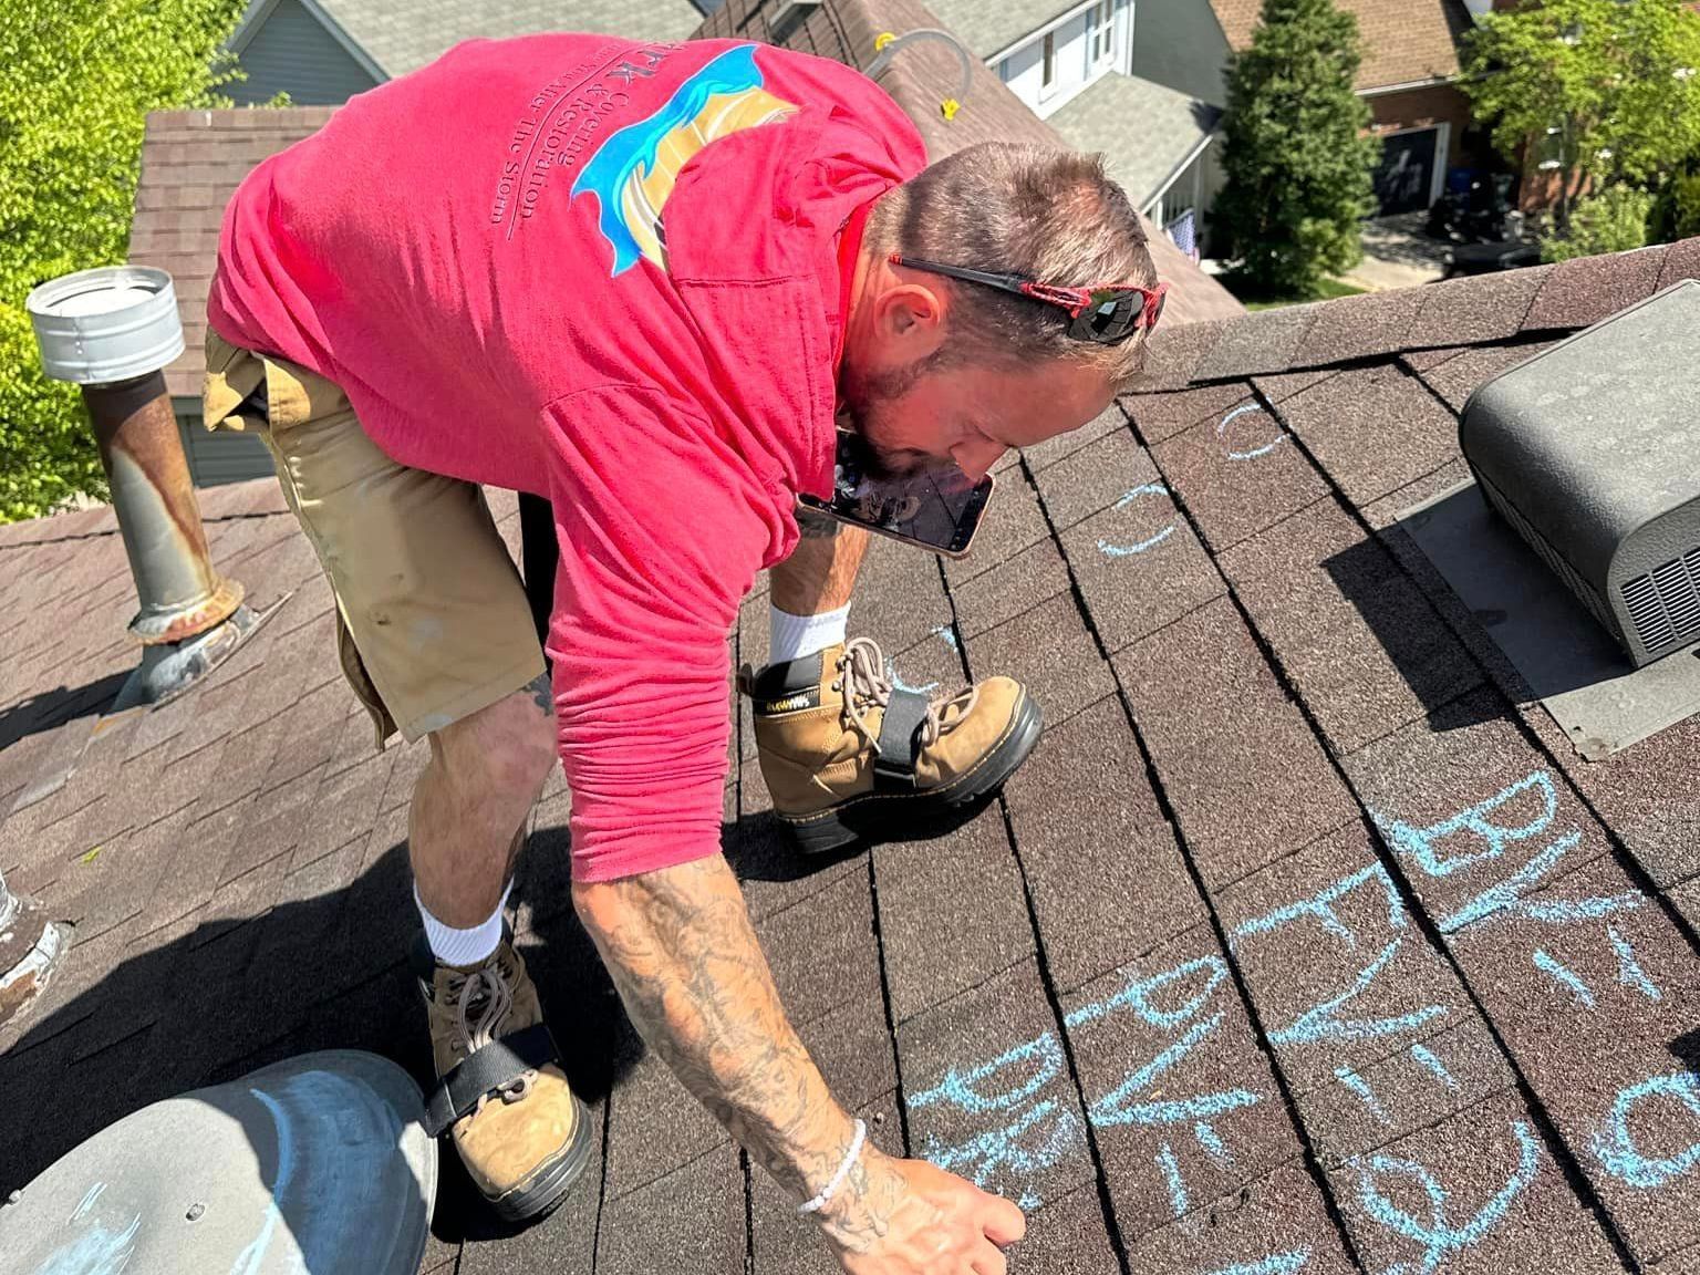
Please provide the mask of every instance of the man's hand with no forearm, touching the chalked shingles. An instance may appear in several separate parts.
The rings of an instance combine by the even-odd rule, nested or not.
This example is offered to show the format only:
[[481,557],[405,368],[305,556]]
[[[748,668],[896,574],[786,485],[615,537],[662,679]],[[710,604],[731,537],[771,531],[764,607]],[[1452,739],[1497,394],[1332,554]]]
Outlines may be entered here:
[[867,1148],[821,1226],[848,1275],[1005,1275],[1022,1210],[925,1159]]

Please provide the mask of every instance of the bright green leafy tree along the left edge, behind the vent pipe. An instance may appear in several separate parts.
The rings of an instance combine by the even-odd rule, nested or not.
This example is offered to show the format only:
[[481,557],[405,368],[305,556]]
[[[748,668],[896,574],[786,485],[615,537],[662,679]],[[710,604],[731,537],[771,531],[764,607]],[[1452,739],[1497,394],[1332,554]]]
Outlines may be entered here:
[[0,0],[0,522],[105,478],[75,388],[41,374],[31,287],[124,260],[148,110],[214,105],[243,0]]

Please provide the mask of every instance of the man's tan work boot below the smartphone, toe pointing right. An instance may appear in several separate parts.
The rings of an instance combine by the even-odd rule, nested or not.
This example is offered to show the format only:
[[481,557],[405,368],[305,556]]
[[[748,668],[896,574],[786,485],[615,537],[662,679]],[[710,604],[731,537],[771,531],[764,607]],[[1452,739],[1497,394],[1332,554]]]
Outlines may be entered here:
[[1044,714],[993,677],[947,699],[892,687],[879,644],[745,668],[774,809],[802,850],[891,840],[996,792],[1039,743]]

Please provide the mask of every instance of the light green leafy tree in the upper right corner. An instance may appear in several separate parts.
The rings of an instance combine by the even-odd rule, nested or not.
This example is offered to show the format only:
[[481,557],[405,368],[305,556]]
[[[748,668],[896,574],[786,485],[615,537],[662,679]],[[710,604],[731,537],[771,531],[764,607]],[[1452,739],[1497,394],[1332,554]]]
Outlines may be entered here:
[[1561,235],[1579,187],[1656,190],[1700,150],[1700,14],[1685,0],[1542,0],[1488,14],[1464,65],[1499,153],[1518,163],[1532,148],[1556,172]]

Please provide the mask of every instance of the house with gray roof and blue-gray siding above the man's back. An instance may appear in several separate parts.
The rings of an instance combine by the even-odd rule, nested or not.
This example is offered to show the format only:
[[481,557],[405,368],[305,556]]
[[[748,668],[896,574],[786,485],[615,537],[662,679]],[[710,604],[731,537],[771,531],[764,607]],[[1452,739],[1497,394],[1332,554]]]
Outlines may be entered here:
[[464,39],[590,31],[685,39],[717,0],[252,0],[230,48],[248,78],[230,95],[296,105],[347,102]]

